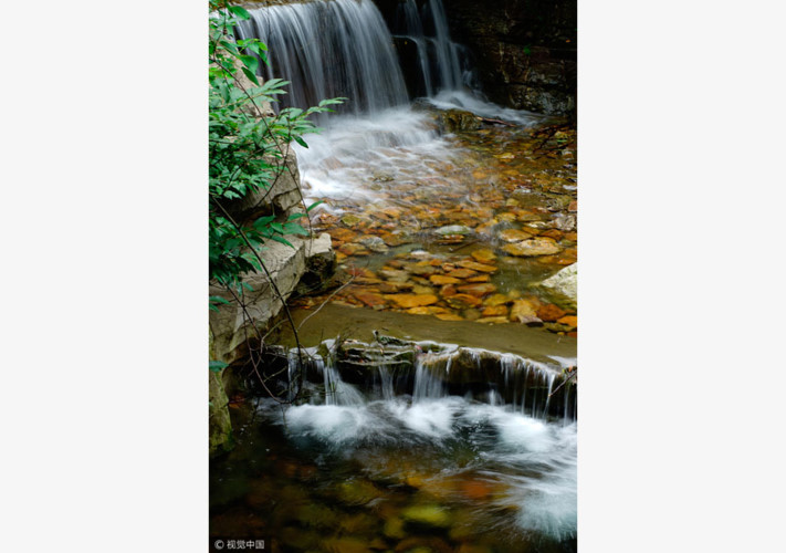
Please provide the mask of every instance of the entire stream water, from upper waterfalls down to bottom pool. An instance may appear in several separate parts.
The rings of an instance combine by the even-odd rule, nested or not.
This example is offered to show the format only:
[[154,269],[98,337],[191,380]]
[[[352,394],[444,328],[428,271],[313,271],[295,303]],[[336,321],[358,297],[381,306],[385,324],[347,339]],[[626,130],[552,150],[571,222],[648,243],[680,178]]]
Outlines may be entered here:
[[[349,98],[295,147],[305,196],[324,201],[315,230],[331,233],[353,279],[332,305],[504,335],[536,313],[574,340],[575,310],[532,284],[576,261],[575,133],[489,103],[441,0],[399,2],[391,21],[370,0],[251,15],[239,34],[269,45],[263,76],[292,82],[284,105]],[[482,123],[447,127],[440,113],[457,108]],[[553,251],[506,250],[533,237]],[[272,551],[575,551],[576,388],[557,390],[574,354],[534,362],[418,344],[409,365],[390,347],[343,365],[315,346],[301,369],[290,352],[282,374],[306,372],[300,405],[232,406],[237,447],[211,461],[211,539],[268,539]]]

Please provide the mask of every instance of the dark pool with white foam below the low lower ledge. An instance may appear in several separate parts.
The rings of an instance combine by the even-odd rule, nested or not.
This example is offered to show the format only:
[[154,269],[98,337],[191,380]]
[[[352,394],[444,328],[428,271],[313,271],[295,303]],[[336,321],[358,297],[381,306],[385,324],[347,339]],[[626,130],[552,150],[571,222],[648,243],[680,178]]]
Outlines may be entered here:
[[273,551],[576,550],[575,422],[455,396],[286,410],[260,400],[254,417],[211,466],[213,539],[266,538]]

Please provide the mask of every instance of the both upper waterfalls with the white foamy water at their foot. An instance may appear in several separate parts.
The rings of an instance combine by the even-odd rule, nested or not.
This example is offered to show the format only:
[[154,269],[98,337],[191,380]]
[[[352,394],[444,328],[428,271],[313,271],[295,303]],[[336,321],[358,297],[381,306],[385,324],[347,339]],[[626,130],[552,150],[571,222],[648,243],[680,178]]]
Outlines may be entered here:
[[[490,104],[467,87],[470,73],[462,70],[461,46],[450,40],[441,0],[429,0],[422,13],[413,0],[402,9],[400,32],[420,43],[431,104],[523,126],[537,121],[528,112]],[[271,63],[263,76],[292,83],[284,105],[305,108],[324,98],[348,98],[338,114],[321,116],[325,131],[306,137],[308,148],[293,145],[307,199],[335,200],[321,209],[387,201],[405,186],[422,186],[418,177],[437,176],[436,164],[461,156],[428,114],[410,107],[394,38],[371,0],[315,0],[250,13],[238,34],[268,44]],[[391,179],[396,188],[385,185]],[[373,180],[381,185],[369,187]]]

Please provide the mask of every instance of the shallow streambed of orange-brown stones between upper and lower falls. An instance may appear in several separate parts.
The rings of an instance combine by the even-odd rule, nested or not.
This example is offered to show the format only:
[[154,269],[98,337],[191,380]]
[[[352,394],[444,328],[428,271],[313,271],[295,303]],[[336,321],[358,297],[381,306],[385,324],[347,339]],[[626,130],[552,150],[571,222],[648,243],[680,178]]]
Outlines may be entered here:
[[[329,295],[345,305],[577,336],[575,129],[469,117],[476,125],[450,127],[440,147],[387,148],[366,159],[365,173],[322,159],[345,186],[311,194],[328,208],[315,230],[331,234],[345,285],[297,307]],[[304,182],[308,194],[307,169]],[[353,194],[360,186],[364,194]]]

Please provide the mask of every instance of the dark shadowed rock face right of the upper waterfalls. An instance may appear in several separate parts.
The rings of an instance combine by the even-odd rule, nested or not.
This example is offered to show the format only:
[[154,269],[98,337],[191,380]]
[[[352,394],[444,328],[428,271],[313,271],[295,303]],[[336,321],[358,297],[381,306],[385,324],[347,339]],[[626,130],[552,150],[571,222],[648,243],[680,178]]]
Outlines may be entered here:
[[575,112],[575,0],[443,3],[451,36],[475,55],[492,101],[549,115]]

